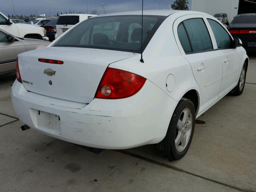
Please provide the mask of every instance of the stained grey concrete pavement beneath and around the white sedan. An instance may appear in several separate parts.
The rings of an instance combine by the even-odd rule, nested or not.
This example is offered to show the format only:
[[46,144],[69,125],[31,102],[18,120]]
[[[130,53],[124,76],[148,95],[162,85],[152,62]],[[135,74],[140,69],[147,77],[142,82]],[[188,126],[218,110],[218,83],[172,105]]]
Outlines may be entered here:
[[197,121],[186,156],[159,157],[154,146],[99,154],[33,129],[21,131],[0,78],[0,192],[256,191],[256,57],[241,96],[226,96]]

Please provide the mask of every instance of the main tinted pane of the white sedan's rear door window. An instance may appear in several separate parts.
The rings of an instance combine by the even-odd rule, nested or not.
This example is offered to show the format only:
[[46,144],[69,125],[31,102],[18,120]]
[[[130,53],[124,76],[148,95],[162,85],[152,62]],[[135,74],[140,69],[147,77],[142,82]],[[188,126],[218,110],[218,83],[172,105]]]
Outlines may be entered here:
[[212,50],[212,41],[202,18],[184,20],[183,24],[188,32],[192,51]]

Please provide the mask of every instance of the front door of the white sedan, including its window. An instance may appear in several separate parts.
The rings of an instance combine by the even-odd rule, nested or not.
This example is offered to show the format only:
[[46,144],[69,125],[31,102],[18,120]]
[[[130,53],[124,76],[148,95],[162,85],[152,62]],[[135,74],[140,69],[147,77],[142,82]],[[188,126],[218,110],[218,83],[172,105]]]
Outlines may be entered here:
[[232,46],[232,37],[228,31],[217,21],[207,18],[214,34],[218,52],[222,55],[222,83],[219,97],[224,96],[237,84],[241,53]]

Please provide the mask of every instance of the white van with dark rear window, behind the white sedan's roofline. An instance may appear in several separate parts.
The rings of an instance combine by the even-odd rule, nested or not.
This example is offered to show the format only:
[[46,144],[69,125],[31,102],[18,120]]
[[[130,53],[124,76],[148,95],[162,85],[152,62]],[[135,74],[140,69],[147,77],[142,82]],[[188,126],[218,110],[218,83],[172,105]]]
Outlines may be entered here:
[[92,16],[91,14],[62,14],[59,16],[56,23],[55,39],[70,29],[75,24],[82,22]]

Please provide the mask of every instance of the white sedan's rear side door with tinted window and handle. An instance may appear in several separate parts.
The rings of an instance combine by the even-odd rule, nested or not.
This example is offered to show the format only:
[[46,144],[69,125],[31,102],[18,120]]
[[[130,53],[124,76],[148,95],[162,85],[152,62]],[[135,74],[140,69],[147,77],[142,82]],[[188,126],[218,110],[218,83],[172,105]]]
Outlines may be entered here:
[[174,36],[200,87],[200,113],[218,100],[222,79],[222,56],[216,50],[216,43],[212,43],[212,34],[209,33],[202,15],[178,18],[174,22]]

